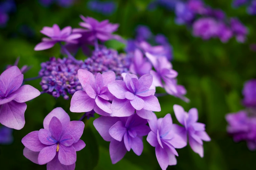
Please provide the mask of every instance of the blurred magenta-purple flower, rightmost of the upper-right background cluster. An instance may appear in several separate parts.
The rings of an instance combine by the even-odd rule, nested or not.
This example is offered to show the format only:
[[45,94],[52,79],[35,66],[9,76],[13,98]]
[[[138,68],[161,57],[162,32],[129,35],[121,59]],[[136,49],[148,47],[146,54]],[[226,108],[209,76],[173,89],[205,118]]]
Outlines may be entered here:
[[230,27],[238,42],[245,42],[248,34],[247,28],[236,18],[230,19]]

